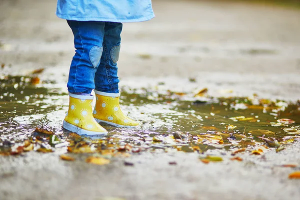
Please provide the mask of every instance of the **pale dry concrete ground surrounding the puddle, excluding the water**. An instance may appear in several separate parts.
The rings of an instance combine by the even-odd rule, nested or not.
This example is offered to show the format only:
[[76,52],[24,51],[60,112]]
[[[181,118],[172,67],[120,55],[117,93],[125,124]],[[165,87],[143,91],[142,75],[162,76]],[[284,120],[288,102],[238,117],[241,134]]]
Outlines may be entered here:
[[[72,34],[55,16],[55,3],[0,2],[0,62],[6,65],[0,70],[24,75],[45,68],[41,79],[66,91]],[[153,0],[153,8],[153,20],[124,24],[121,85],[164,81],[178,91],[208,87],[213,96],[299,99],[298,9],[211,0]],[[97,166],[65,162],[55,153],[0,156],[0,199],[299,199],[300,181],[287,178],[295,169],[277,166],[300,164],[299,146],[208,165],[195,153],[176,151],[126,158],[134,166],[124,166],[124,158]]]

